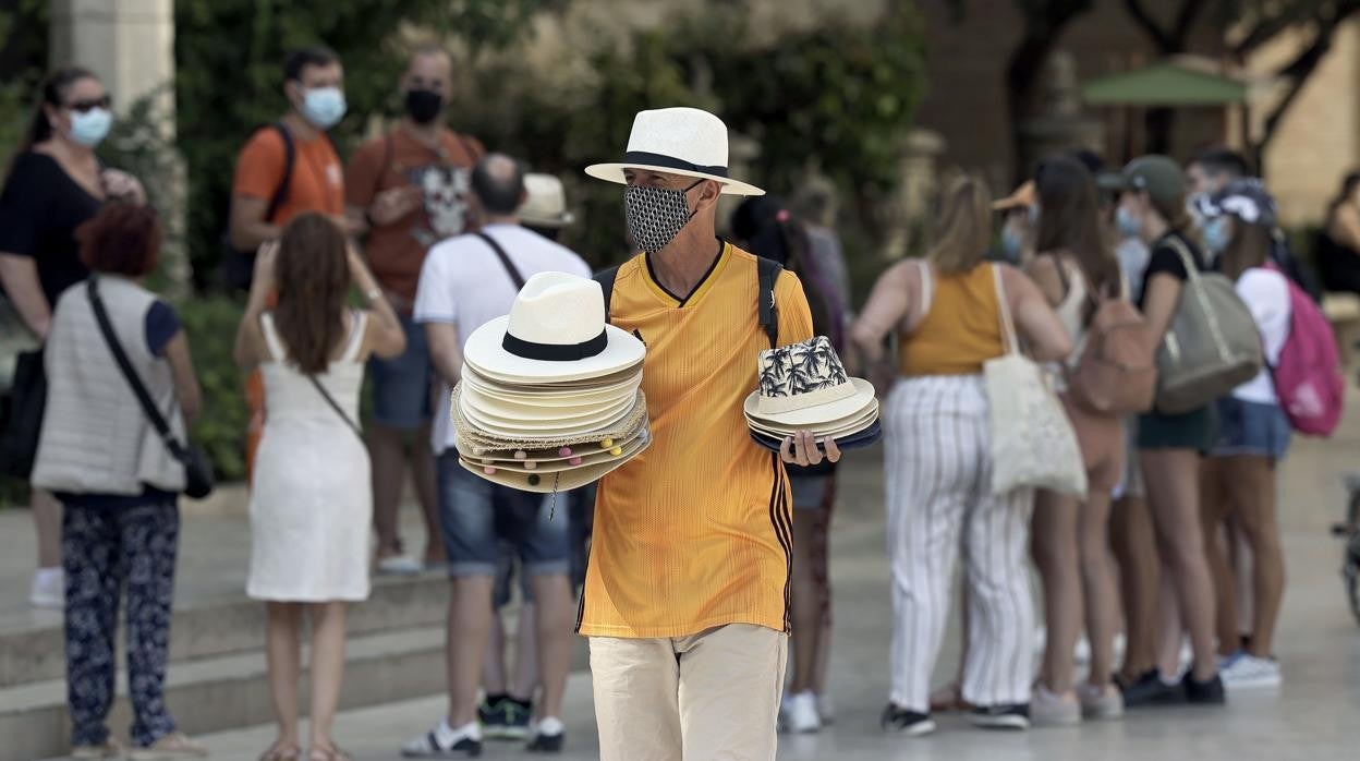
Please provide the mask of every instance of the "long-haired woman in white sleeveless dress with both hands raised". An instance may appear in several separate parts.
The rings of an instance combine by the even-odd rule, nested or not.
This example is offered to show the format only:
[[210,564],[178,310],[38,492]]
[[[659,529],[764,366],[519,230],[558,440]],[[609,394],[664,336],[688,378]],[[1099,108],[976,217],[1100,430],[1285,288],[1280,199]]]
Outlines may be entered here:
[[[345,306],[351,285],[367,310]],[[277,295],[276,305],[269,301]],[[370,354],[396,357],[405,336],[363,260],[328,218],[294,219],[256,257],[237,329],[237,363],[264,374],[268,419],[250,491],[250,580],[265,600],[267,655],[279,738],[262,761],[296,761],[302,613],[311,618],[307,761],[343,761],[330,724],[344,673],[345,613],[369,596],[373,517],[369,451],[358,426]]]

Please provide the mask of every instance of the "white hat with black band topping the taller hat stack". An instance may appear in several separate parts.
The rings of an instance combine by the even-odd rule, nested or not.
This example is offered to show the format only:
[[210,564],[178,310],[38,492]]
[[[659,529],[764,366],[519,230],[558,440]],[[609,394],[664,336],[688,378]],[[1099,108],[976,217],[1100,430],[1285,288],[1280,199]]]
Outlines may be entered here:
[[484,376],[552,383],[608,376],[642,362],[641,340],[605,324],[600,283],[539,272],[510,313],[468,336],[464,361]]

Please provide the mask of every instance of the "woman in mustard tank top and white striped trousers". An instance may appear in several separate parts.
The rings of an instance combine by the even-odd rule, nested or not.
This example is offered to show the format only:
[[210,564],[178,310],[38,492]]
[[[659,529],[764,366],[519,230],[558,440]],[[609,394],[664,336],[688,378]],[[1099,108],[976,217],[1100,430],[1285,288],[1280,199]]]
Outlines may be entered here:
[[948,184],[937,245],[879,278],[851,340],[883,357],[898,334],[900,377],[884,406],[888,558],[895,614],[892,692],[884,728],[934,730],[930,673],[949,614],[949,581],[966,550],[972,624],[963,698],[983,727],[1028,727],[1034,603],[1028,521],[1032,493],[993,496],[982,366],[1002,354],[998,291],[1039,361],[1066,357],[1072,342],[1039,289],[1009,265],[983,261],[991,237],[982,181]]

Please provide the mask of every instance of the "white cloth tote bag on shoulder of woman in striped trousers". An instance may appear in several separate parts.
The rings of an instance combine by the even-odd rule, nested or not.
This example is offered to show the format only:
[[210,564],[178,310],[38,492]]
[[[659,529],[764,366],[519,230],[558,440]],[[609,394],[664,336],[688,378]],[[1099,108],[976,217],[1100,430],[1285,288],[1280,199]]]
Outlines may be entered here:
[[1087,496],[1087,470],[1072,422],[1049,374],[1020,353],[1001,268],[991,267],[1005,354],[982,365],[991,423],[991,493],[1032,486]]

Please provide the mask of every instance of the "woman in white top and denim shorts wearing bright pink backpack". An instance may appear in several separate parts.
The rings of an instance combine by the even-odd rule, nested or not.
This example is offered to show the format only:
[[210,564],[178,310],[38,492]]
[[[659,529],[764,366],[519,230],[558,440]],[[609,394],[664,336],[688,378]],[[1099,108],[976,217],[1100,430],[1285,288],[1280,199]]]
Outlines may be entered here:
[[[1284,595],[1284,553],[1276,521],[1274,467],[1289,448],[1291,426],[1276,396],[1270,368],[1278,365],[1289,338],[1289,282],[1268,265],[1274,204],[1259,185],[1229,185],[1214,200],[1220,215],[1206,223],[1205,242],[1219,255],[1223,274],[1236,283],[1238,295],[1251,309],[1268,366],[1219,400],[1219,436],[1201,476],[1205,551],[1217,587],[1224,685],[1276,685],[1280,664],[1270,652]],[[1251,547],[1253,615],[1244,649],[1239,649],[1242,643],[1236,637],[1234,574],[1220,540],[1220,527],[1229,517]],[[1224,630],[1232,634],[1227,641]]]

